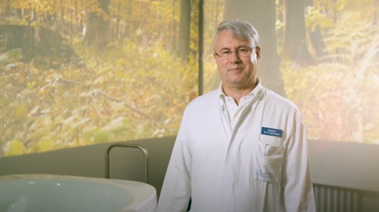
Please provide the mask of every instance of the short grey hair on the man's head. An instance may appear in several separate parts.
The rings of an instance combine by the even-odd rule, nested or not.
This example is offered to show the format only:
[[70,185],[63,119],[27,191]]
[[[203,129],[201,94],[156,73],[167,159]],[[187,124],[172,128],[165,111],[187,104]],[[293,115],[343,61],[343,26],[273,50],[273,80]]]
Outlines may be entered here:
[[250,41],[254,46],[259,45],[259,36],[254,26],[244,20],[223,21],[218,24],[216,34],[213,39],[213,50],[215,49],[217,36],[221,31],[227,30],[228,33],[237,40]]

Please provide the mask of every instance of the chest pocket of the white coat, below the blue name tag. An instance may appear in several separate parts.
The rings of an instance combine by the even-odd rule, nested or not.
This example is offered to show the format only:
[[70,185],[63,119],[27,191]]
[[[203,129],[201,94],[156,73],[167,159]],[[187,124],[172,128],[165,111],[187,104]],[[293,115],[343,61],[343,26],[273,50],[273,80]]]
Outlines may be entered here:
[[253,155],[252,178],[273,184],[279,183],[285,148],[258,140]]

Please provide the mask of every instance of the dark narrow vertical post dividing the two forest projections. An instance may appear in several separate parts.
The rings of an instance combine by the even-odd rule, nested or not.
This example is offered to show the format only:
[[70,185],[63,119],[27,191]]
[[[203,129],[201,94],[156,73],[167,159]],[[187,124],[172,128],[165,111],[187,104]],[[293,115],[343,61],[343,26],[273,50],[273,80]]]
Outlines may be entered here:
[[203,94],[204,74],[202,55],[204,52],[204,0],[198,1],[198,95]]

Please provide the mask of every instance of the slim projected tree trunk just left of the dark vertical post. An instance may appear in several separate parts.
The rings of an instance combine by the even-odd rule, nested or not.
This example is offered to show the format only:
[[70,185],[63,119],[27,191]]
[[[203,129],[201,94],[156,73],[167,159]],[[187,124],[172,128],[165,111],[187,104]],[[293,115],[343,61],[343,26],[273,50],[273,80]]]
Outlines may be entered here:
[[179,26],[179,48],[178,54],[185,61],[189,55],[189,36],[190,36],[190,20],[191,20],[191,1],[181,1],[181,14]]

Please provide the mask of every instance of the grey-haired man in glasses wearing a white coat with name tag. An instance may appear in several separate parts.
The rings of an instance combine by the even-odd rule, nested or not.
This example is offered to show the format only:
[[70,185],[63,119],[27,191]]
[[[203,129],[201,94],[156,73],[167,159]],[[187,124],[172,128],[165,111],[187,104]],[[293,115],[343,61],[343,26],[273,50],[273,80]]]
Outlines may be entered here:
[[315,212],[305,127],[297,107],[256,76],[258,34],[218,25],[222,82],[187,106],[158,212]]

